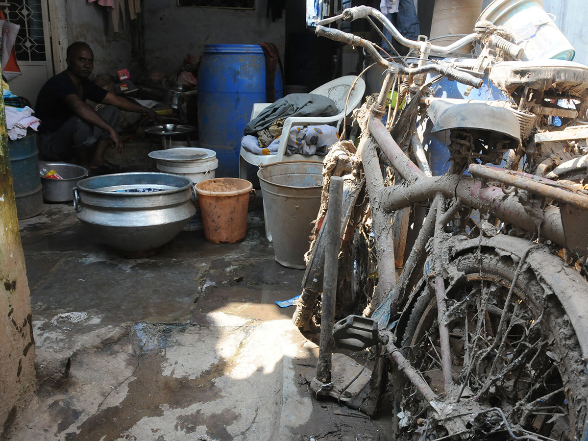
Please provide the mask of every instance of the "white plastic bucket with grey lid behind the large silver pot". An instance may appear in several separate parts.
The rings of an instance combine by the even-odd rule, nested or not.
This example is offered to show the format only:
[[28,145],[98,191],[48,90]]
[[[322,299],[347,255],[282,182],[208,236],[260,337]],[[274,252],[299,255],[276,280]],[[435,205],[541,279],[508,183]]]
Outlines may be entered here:
[[157,150],[149,158],[155,159],[159,171],[186,176],[194,184],[213,179],[219,163],[214,151],[196,147]]

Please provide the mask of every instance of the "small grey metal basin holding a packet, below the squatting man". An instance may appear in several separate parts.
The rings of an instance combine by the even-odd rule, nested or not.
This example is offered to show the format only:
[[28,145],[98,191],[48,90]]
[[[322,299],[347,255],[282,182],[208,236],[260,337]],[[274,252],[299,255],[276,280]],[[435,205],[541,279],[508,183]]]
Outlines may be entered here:
[[39,162],[42,169],[55,170],[63,179],[52,179],[41,176],[43,199],[45,202],[69,202],[74,199],[74,187],[80,179],[88,176],[88,170],[81,165],[67,162]]

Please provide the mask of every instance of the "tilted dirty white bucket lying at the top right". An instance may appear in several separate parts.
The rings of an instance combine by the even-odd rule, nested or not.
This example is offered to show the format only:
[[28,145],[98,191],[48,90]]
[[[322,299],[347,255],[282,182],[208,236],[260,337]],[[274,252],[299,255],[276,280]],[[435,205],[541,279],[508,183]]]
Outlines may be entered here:
[[494,0],[482,11],[478,21],[488,20],[515,36],[524,49],[522,61],[554,58],[572,61],[572,44],[543,9],[542,0]]

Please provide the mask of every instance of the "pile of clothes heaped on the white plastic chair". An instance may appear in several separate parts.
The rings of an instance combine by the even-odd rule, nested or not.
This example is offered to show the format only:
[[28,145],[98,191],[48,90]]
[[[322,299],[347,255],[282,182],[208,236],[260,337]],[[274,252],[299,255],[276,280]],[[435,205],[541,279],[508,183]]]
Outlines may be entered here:
[[241,146],[255,155],[276,155],[281,137],[288,136],[286,155],[326,155],[330,146],[339,140],[331,125],[293,125],[282,134],[286,118],[290,116],[333,116],[339,110],[335,102],[315,93],[291,93],[269,105],[249,121],[243,131]]

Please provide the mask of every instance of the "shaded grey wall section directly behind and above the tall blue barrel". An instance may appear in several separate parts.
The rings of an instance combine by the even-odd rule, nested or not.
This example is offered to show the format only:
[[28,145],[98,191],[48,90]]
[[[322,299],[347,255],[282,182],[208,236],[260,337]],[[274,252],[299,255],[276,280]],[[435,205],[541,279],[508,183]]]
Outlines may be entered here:
[[285,14],[272,22],[266,18],[264,0],[256,0],[255,11],[176,6],[175,0],[146,0],[146,59],[150,69],[173,75],[187,54],[199,56],[206,44],[260,44],[279,46],[284,56]]

